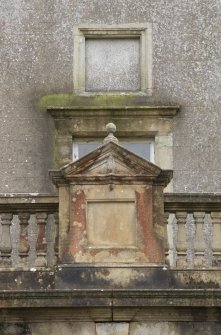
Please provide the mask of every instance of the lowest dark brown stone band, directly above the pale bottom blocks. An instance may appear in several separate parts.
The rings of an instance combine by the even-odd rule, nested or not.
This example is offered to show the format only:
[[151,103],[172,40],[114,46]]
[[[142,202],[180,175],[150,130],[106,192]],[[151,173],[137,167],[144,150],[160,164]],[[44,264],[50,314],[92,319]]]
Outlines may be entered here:
[[101,307],[13,307],[1,308],[0,322],[107,322],[107,321],[221,321],[220,307],[194,306],[101,306]]

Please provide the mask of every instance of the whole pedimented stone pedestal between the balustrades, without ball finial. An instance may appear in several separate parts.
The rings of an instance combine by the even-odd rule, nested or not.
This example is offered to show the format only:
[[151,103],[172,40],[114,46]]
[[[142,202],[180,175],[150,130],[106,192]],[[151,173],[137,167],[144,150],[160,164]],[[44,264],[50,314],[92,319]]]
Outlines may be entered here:
[[164,264],[163,189],[172,171],[109,138],[79,160],[50,171],[59,189],[60,263]]

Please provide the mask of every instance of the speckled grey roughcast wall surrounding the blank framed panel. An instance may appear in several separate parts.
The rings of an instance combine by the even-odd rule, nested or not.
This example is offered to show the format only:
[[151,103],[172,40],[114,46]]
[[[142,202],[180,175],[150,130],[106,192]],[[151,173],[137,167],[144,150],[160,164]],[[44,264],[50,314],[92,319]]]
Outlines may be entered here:
[[180,105],[174,191],[221,190],[219,0],[6,0],[1,12],[1,192],[49,192],[52,122],[36,107],[73,91],[73,26],[153,24],[153,95]]

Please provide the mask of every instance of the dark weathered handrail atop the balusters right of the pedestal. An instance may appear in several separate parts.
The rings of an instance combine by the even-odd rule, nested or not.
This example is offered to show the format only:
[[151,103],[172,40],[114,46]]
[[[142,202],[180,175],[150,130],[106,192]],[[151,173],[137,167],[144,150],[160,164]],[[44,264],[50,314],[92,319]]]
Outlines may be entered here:
[[164,211],[221,212],[221,194],[216,193],[165,193]]

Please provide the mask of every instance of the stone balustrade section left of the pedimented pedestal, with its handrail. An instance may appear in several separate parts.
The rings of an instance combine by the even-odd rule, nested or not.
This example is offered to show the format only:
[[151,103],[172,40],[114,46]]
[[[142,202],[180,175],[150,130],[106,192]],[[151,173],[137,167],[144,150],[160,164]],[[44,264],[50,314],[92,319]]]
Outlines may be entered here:
[[0,267],[42,268],[58,256],[56,196],[0,196]]

